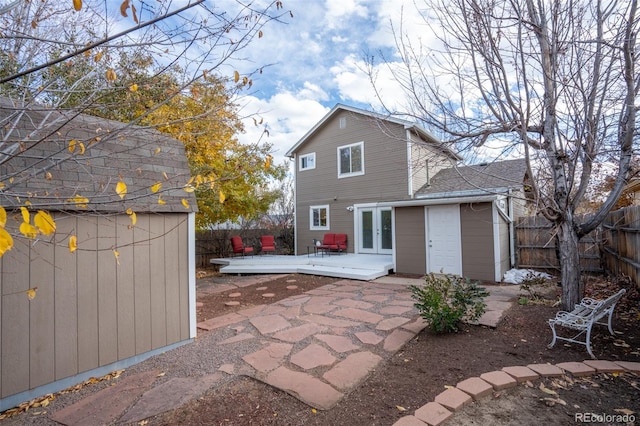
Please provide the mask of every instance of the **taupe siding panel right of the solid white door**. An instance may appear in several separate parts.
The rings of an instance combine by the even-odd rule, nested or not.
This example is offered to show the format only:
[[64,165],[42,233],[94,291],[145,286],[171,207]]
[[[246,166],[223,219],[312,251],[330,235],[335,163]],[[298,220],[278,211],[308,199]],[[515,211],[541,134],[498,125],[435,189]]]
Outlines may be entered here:
[[460,206],[462,271],[467,278],[495,281],[491,203]]

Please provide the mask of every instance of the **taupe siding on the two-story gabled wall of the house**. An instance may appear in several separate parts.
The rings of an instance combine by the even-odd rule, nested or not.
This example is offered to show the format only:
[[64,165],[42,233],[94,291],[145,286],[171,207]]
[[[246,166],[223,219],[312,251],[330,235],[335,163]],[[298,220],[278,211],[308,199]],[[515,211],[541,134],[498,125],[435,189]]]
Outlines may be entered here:
[[[341,129],[340,119],[346,120]],[[407,194],[407,150],[403,126],[387,123],[382,128],[371,117],[341,110],[296,151],[296,240],[297,253],[306,253],[312,240],[327,232],[345,233],[347,251],[353,252],[354,213],[347,207],[381,200],[409,199]],[[361,176],[338,179],[337,149],[364,142]],[[316,153],[315,169],[300,171],[299,156]],[[329,230],[311,231],[309,207],[329,205]]]

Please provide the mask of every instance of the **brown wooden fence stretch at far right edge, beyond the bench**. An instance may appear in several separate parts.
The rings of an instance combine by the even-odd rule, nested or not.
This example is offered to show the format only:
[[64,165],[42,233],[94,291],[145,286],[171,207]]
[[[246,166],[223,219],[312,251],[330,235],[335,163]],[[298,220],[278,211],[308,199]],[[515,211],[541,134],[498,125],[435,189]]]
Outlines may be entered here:
[[602,239],[607,271],[640,282],[640,206],[609,213],[602,224]]

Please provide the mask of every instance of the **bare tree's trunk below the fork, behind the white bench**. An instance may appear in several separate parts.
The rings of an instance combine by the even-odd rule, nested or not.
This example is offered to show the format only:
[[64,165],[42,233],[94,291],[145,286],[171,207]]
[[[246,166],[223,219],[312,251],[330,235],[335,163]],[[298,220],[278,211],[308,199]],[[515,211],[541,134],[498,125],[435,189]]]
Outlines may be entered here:
[[573,227],[571,216],[557,227],[560,252],[560,274],[562,283],[562,309],[572,311],[582,299],[580,285],[580,251],[578,233]]

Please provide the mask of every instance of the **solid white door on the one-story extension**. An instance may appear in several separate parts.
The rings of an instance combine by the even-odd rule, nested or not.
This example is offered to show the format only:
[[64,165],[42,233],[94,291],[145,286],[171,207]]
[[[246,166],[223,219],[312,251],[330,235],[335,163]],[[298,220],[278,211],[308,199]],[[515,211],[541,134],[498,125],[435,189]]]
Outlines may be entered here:
[[460,206],[425,208],[427,272],[462,275]]

